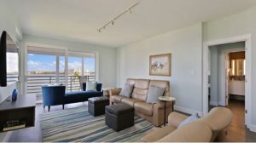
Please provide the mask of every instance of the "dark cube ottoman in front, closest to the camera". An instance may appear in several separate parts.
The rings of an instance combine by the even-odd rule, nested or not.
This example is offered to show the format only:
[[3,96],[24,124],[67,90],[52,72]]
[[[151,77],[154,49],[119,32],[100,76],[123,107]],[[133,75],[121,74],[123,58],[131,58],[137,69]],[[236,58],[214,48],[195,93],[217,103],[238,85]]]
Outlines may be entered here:
[[123,103],[105,107],[105,123],[115,131],[134,124],[134,108]]

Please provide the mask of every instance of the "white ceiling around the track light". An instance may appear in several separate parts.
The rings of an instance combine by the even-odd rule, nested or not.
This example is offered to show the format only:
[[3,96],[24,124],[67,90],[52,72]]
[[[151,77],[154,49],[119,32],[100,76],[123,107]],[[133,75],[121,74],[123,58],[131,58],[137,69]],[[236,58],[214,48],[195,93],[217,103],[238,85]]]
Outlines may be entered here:
[[[101,33],[96,29],[135,2]],[[197,22],[238,13],[256,0],[5,0],[23,33],[119,47]]]

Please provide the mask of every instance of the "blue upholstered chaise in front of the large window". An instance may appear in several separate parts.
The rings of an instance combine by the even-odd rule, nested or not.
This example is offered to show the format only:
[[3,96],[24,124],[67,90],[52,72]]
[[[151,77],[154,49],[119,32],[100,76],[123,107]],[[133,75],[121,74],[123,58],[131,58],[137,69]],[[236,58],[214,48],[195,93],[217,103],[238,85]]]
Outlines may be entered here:
[[83,83],[83,91],[66,92],[65,86],[42,86],[44,108],[48,106],[62,105],[64,109],[65,104],[77,103],[87,101],[91,97],[102,96],[102,83],[97,83],[97,91],[85,91],[86,83]]

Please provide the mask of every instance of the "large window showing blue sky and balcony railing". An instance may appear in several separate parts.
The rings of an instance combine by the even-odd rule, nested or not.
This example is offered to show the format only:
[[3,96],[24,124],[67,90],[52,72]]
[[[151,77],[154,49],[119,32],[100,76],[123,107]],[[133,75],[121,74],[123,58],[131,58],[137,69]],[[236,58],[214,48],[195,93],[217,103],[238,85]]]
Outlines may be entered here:
[[95,65],[95,54],[28,47],[27,94],[36,94],[37,100],[42,100],[41,86],[50,83],[62,83],[68,91],[79,91],[82,83],[96,79]]

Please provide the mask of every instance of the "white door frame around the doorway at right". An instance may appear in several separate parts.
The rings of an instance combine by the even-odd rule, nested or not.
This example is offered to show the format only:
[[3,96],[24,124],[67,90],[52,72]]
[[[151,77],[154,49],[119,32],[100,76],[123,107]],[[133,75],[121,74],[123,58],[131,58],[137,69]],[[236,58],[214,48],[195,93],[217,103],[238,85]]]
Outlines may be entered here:
[[209,47],[224,43],[237,43],[237,42],[245,42],[245,51],[246,51],[246,88],[245,88],[245,108],[247,110],[246,113],[246,125],[250,129],[252,125],[252,106],[251,106],[251,100],[252,100],[252,94],[251,94],[251,49],[252,49],[252,36],[251,34],[247,35],[241,35],[237,37],[227,37],[222,39],[217,39],[213,41],[207,41],[203,43],[203,115],[206,115],[208,113],[208,69],[209,69]]

